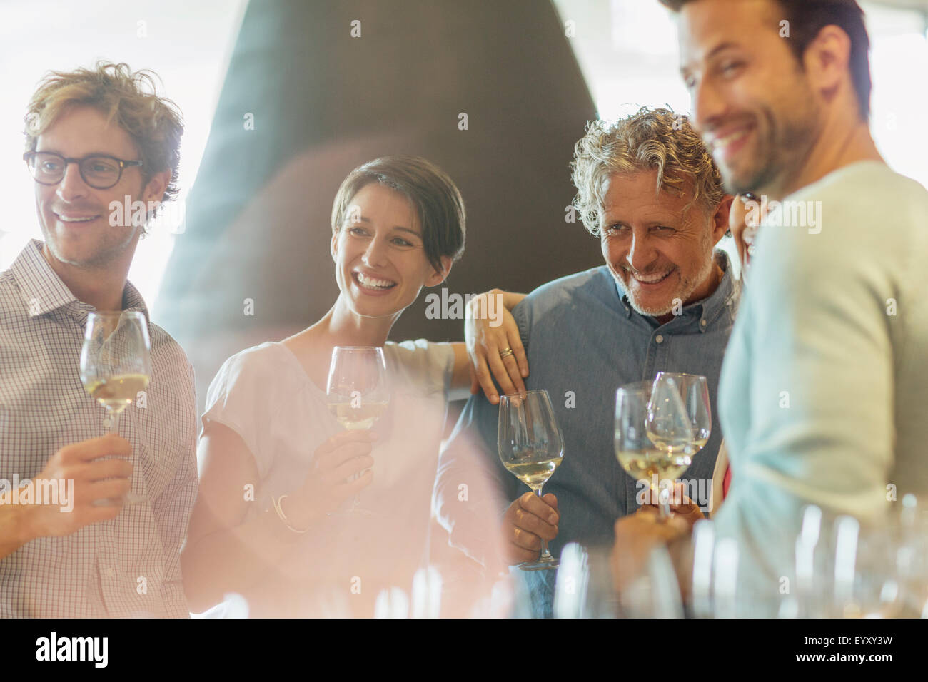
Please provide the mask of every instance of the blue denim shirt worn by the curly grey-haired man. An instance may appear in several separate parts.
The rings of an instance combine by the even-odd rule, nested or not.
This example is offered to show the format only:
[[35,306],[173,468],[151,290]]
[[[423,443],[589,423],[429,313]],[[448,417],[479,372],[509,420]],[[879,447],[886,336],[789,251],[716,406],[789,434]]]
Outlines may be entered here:
[[[681,315],[663,325],[632,308],[605,265],[548,282],[513,309],[528,356],[525,386],[548,390],[564,441],[561,466],[543,490],[557,495],[561,513],[558,537],[550,543],[554,556],[570,542],[611,545],[615,521],[638,508],[641,487],[619,465],[612,444],[615,389],[622,384],[651,380],[662,370],[707,378],[712,434],[680,478],[698,480],[706,491],[703,501],[711,500],[709,486],[722,440],[715,396],[739,293],[727,256],[720,251],[716,255],[725,274],[715,292],[684,306]],[[499,461],[497,416],[498,407],[483,392],[470,396],[440,457],[433,496],[435,514],[451,534],[451,545],[477,559],[479,550],[470,551],[464,543],[465,537],[480,534],[469,533],[458,522],[467,510],[449,473],[455,470],[455,459],[471,457],[476,444],[485,456],[483,466],[508,503],[529,490]]]

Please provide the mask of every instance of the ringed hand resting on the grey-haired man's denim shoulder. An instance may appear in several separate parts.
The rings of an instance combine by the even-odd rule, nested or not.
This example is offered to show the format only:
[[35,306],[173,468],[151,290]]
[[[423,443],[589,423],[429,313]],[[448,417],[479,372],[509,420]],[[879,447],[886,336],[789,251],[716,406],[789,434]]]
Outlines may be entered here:
[[[468,303],[464,341],[470,356],[470,392],[483,388],[493,405],[499,403],[494,379],[504,394],[525,391],[528,359],[519,327],[509,312],[523,298],[524,294],[494,289],[474,296]],[[505,356],[501,356],[504,352]]]

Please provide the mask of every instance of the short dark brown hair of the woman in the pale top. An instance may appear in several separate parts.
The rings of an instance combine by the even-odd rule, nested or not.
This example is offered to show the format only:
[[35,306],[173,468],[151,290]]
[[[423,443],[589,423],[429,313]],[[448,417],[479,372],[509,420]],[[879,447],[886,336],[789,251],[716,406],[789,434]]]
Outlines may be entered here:
[[381,156],[354,169],[342,181],[332,203],[332,233],[342,229],[347,212],[363,187],[379,183],[409,199],[422,225],[422,248],[437,271],[442,256],[457,261],[464,252],[464,199],[454,181],[432,161],[419,156]]

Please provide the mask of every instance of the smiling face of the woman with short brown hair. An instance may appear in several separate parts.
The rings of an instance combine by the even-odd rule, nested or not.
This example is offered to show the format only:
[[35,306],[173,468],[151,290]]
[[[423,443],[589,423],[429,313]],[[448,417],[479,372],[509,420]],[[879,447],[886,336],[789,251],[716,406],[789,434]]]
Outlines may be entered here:
[[409,199],[389,187],[371,183],[351,199],[342,228],[332,237],[335,278],[342,299],[356,315],[398,315],[423,286],[445,279],[422,247],[422,226]]

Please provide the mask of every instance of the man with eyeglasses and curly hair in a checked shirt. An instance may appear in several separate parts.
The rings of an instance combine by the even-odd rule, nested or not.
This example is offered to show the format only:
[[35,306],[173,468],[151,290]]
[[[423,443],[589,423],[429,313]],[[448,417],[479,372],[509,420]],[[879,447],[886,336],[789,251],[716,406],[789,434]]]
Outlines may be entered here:
[[[0,274],[0,617],[186,617],[193,369],[126,280],[150,215],[111,208],[174,199],[180,116],[146,72],[99,63],[49,74],[26,123],[44,240]],[[95,311],[148,321],[150,382],[118,435],[79,375]]]

